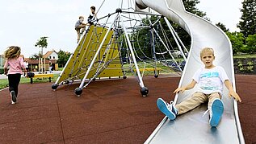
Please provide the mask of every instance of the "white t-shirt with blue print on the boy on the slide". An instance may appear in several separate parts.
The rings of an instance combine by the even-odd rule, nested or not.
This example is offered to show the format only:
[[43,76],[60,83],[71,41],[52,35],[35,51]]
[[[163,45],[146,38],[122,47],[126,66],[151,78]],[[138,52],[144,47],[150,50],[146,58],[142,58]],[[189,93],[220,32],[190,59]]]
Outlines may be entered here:
[[193,79],[199,84],[197,92],[222,94],[224,82],[225,80],[229,80],[229,77],[224,68],[216,66],[211,69],[200,68],[195,72]]

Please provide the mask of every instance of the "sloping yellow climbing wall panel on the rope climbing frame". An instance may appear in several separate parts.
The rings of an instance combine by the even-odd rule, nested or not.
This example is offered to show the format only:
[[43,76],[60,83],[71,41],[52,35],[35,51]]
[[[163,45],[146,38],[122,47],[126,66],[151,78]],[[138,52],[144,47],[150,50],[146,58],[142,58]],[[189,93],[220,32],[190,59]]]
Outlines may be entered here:
[[[90,30],[83,35],[57,83],[83,79],[106,33],[107,28],[90,26]],[[96,72],[99,73],[97,77],[123,76],[120,53],[113,34],[114,31],[108,33],[87,79],[94,77]]]

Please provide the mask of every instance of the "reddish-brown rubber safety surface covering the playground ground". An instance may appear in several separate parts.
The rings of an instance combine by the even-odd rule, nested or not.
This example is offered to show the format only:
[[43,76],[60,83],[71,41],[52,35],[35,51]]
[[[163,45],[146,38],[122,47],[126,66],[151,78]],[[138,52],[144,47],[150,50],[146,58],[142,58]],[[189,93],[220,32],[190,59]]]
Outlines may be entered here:
[[[0,91],[0,143],[143,143],[164,115],[156,101],[174,99],[180,77],[144,76],[148,97],[135,77],[95,80],[76,97],[79,84],[19,84],[18,103]],[[256,142],[256,76],[236,75],[239,117],[246,143]]]

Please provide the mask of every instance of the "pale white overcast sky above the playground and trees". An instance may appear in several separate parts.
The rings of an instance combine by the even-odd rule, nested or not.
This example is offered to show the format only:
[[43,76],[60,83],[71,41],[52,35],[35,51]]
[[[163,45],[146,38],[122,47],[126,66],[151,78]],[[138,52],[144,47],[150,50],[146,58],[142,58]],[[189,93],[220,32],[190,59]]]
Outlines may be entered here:
[[[242,0],[200,0],[196,6],[206,12],[212,23],[223,23],[229,31],[236,27],[241,18]],[[101,6],[101,4],[103,5]],[[115,12],[121,6],[120,0],[0,0],[0,54],[6,47],[15,45],[22,48],[27,58],[38,53],[35,47],[40,37],[48,37],[46,51],[73,52],[77,47],[77,32],[74,24],[80,15],[85,19],[90,6],[99,9],[98,18]],[[123,2],[126,6],[128,1]]]

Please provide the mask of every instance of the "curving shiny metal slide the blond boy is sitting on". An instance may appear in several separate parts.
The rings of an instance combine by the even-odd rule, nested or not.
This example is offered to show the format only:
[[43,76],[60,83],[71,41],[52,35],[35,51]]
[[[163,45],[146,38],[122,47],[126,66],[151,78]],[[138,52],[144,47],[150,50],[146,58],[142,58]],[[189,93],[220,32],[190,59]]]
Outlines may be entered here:
[[[212,47],[216,55],[214,64],[225,68],[235,88],[232,46],[223,31],[195,14],[188,13],[182,0],[136,0],[136,7],[141,10],[145,7],[156,10],[178,23],[191,35],[191,50],[179,86],[189,84],[195,71],[204,67],[199,58],[199,51],[203,47]],[[191,97],[195,89],[176,95],[174,103],[178,104]],[[222,100],[225,112],[216,128],[211,128],[208,124],[208,115],[202,117],[207,105],[201,105],[191,112],[178,116],[174,121],[165,117],[145,143],[245,143],[237,113],[237,101],[228,97],[227,88]]]

